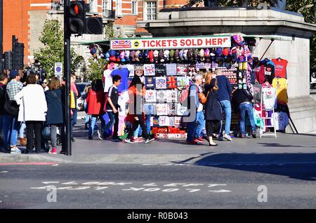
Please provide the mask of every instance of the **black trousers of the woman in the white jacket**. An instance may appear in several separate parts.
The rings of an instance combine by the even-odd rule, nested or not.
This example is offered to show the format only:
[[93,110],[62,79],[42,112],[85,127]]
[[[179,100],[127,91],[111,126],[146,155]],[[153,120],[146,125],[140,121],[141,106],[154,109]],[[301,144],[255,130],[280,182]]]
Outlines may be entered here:
[[[32,151],[34,141],[35,149],[37,153],[41,151],[41,128],[43,125],[42,121],[26,121],[27,126],[27,150]],[[34,140],[35,133],[35,140]]]

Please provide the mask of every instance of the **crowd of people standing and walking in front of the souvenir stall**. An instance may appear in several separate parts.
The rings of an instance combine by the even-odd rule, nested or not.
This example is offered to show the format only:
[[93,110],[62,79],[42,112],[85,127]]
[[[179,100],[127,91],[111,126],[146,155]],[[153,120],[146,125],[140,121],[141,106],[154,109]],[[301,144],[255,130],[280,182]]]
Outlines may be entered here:
[[[58,77],[39,82],[38,75],[29,74],[25,82],[17,71],[11,71],[9,76],[0,75],[0,130],[1,151],[11,154],[21,154],[17,147],[18,135],[20,145],[26,146],[25,153],[40,153],[47,149],[44,132],[48,132],[51,147],[48,153],[57,154],[58,137],[65,142],[64,94],[65,81]],[[128,88],[127,116],[125,119],[126,137],[118,135],[119,111],[126,108],[119,106],[118,86],[121,76],[112,76],[112,86],[107,95],[104,93],[102,80],[93,81],[86,86],[81,94],[76,86],[76,76],[71,75],[70,85],[70,135],[72,142],[73,126],[77,123],[77,98],[84,100],[86,112],[85,128],[88,130],[88,140],[93,140],[96,131],[100,140],[111,137],[113,142],[125,141],[128,143],[151,142],[154,137],[151,133],[150,114],[145,110],[146,88],[139,76],[134,76]],[[36,98],[36,100],[34,100]],[[241,137],[246,137],[246,114],[253,117],[252,104],[254,96],[249,90],[233,89],[228,78],[220,69],[216,72],[196,74],[188,88],[188,105],[193,119],[187,123],[187,143],[202,144],[204,139],[210,146],[216,146],[214,137],[232,141],[230,137],[230,122],[232,111],[239,113],[239,128]],[[105,119],[108,116],[108,121]],[[225,116],[224,116],[225,115]],[[225,120],[223,120],[225,117]],[[96,123],[100,120],[101,128]],[[225,125],[223,123],[225,121]],[[254,119],[249,119],[251,135],[256,137]],[[26,130],[26,139],[24,137]],[[203,134],[206,130],[206,135]],[[60,151],[65,154],[63,147]]]

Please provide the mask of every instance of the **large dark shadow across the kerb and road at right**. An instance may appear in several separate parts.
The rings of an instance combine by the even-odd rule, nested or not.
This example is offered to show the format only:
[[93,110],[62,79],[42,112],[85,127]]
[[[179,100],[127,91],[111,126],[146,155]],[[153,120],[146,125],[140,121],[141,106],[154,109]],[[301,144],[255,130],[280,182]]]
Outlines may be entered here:
[[[201,156],[202,157],[202,154]],[[316,181],[316,154],[210,154],[176,163],[188,163],[230,170],[283,175],[297,180]]]

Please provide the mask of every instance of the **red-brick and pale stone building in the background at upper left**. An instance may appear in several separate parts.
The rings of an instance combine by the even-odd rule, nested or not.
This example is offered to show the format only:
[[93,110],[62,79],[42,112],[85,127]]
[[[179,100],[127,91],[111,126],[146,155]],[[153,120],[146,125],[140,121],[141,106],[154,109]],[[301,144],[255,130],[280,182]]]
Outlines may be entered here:
[[[178,8],[186,0],[86,0],[90,4],[88,16],[103,17],[106,27],[114,22],[114,34],[121,37],[143,37],[150,34],[138,27],[142,20],[156,20],[162,8]],[[58,19],[63,25],[63,0],[6,0],[4,1],[4,51],[11,50],[12,35],[25,43],[25,64],[33,59],[34,50],[42,45],[39,36],[46,19]],[[113,11],[115,14],[113,14]],[[72,45],[85,57],[86,48],[79,43],[102,41],[105,35],[72,36]]]

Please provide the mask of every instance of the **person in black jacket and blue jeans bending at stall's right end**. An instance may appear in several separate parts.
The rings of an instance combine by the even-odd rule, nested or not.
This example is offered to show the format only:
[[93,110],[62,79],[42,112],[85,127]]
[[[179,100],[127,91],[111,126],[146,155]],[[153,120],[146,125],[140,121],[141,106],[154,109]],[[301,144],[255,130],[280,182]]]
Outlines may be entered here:
[[239,111],[240,114],[240,131],[242,133],[241,137],[246,137],[245,119],[246,113],[249,116],[249,121],[251,125],[251,135],[256,138],[256,125],[254,123],[254,113],[251,101],[254,97],[249,93],[249,90],[237,89],[232,94],[232,105],[235,109]]

